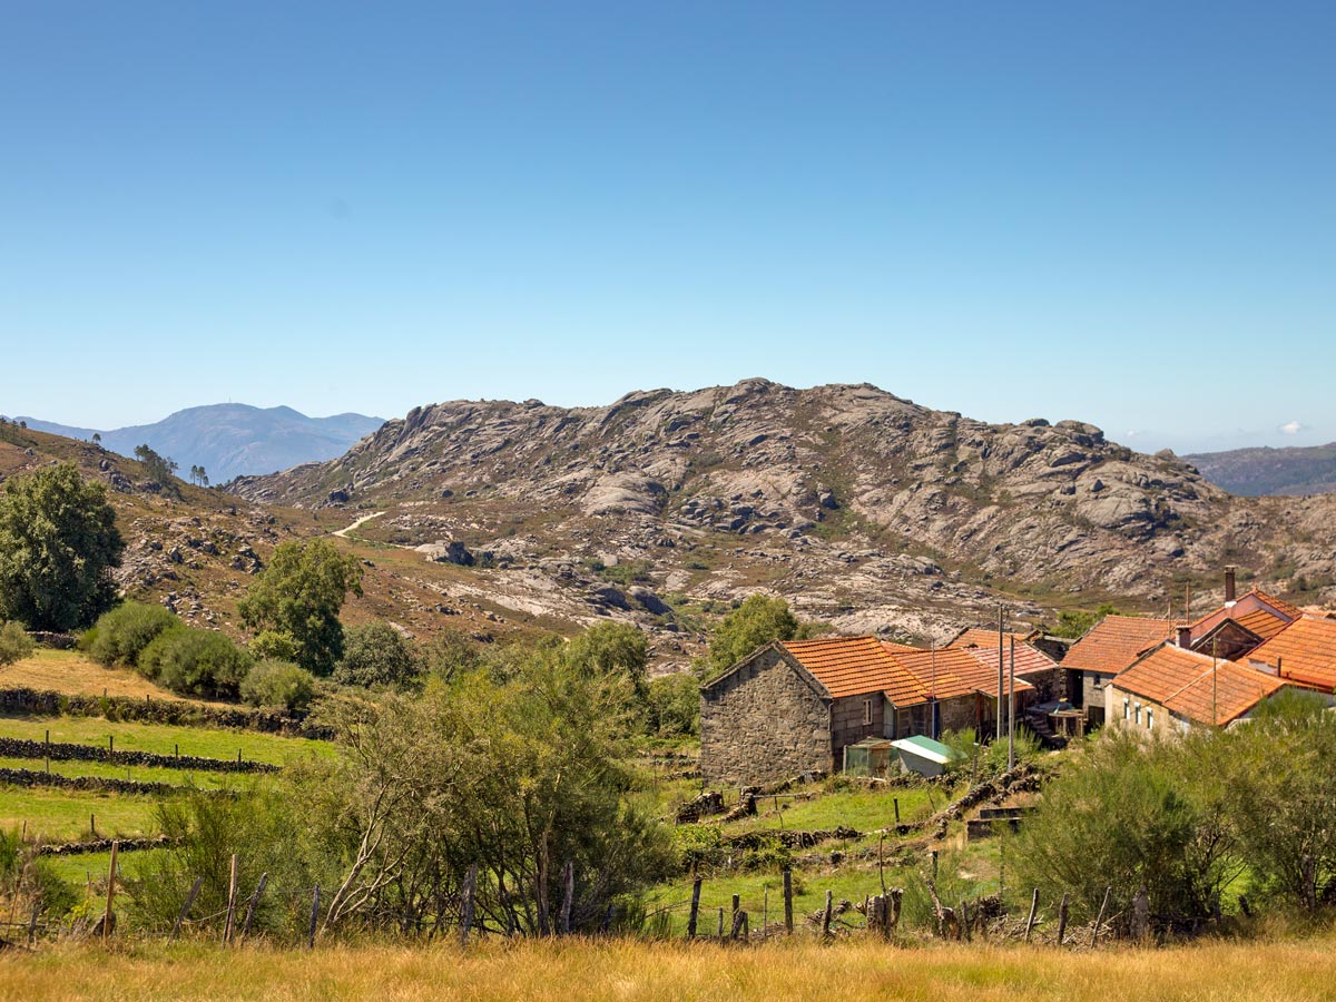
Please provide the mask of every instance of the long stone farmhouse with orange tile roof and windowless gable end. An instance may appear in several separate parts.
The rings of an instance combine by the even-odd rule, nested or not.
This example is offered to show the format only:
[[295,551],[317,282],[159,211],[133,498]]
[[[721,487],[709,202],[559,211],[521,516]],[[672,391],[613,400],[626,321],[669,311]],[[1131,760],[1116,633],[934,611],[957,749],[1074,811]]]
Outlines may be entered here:
[[[1051,684],[1055,671],[1051,659],[1017,645],[1018,720],[1039,697],[1029,679]],[[831,774],[840,768],[844,748],[866,737],[935,737],[967,727],[990,733],[997,720],[997,649],[923,651],[870,636],[775,641],[700,692],[707,783]]]

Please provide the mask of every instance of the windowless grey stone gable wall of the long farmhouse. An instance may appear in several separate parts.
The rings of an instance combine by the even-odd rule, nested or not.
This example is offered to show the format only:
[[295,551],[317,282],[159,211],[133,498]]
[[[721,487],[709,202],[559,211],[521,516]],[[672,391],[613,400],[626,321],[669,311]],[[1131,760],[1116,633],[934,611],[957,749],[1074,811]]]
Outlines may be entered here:
[[701,693],[707,783],[770,783],[831,766],[827,700],[778,651],[762,651]]

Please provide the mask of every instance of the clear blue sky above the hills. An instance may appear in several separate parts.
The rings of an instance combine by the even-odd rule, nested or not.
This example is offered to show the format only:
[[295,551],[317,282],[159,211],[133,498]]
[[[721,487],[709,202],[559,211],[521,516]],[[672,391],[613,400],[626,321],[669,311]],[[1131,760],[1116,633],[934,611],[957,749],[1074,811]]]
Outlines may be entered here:
[[0,413],[766,375],[1336,440],[1331,3],[0,0]]

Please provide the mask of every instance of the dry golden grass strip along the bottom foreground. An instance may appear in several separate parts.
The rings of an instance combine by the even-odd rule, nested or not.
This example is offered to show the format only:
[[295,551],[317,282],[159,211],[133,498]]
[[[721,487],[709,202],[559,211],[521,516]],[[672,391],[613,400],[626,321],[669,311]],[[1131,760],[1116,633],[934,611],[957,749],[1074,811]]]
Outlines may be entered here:
[[0,998],[67,999],[1323,999],[1336,938],[1160,950],[612,942],[321,947],[64,946],[0,955]]

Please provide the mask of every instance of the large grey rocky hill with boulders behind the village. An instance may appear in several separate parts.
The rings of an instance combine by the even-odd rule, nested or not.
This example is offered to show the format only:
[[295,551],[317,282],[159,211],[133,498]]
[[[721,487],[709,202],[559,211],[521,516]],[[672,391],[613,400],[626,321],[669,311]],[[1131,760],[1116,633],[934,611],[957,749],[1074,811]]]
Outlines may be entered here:
[[998,601],[1031,623],[1106,599],[1181,609],[1188,587],[1206,604],[1226,562],[1336,600],[1336,497],[1233,497],[1092,425],[989,425],[870,385],[436,403],[228,490],[363,518],[350,538],[411,557],[403,580],[501,620],[637,621],[668,663],[758,589],[843,631],[918,637]]

